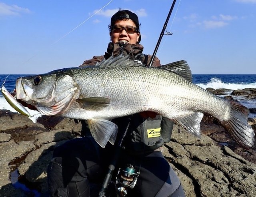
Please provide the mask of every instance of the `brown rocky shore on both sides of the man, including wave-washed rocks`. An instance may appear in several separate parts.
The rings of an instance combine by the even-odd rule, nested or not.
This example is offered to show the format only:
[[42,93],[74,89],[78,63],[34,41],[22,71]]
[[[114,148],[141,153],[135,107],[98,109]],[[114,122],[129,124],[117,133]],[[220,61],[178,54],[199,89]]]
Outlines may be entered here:
[[[233,95],[256,99],[256,89],[233,91]],[[250,111],[256,112],[255,108]],[[255,130],[256,119],[248,122]],[[81,124],[72,119],[42,116],[34,124],[23,115],[0,110],[0,197],[47,197],[46,170],[53,150],[79,137],[80,130]],[[201,130],[198,139],[175,125],[171,142],[162,149],[186,195],[255,197],[256,151],[238,146],[208,115],[204,115]]]

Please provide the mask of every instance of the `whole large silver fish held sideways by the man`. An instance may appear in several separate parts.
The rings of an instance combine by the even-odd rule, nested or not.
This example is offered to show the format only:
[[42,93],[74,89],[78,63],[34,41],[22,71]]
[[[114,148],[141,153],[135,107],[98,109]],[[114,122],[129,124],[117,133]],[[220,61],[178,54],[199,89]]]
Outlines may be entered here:
[[200,136],[203,113],[216,117],[244,147],[254,146],[248,109],[215,96],[192,83],[184,61],[146,68],[128,56],[98,64],[26,76],[16,81],[17,99],[44,115],[88,121],[95,140],[114,143],[117,126],[109,121],[141,111],[153,111]]

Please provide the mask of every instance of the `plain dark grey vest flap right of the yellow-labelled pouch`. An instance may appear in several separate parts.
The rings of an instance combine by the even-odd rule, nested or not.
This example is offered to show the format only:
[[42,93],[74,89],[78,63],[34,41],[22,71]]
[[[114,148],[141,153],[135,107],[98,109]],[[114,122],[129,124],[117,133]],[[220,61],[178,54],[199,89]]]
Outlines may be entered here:
[[171,140],[173,124],[174,122],[172,120],[162,117],[160,133],[164,139],[164,143],[168,143]]

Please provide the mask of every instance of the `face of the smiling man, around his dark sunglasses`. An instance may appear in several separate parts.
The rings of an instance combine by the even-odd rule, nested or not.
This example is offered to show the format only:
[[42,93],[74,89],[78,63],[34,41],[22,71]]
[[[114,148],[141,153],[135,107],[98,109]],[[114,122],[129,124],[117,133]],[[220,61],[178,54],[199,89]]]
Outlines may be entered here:
[[[135,23],[131,19],[118,20],[114,25],[121,27],[136,27]],[[140,33],[138,32],[134,32],[132,34],[128,34],[125,30],[122,30],[121,33],[115,33],[114,31],[110,32],[110,38],[112,40],[112,43],[123,41],[128,42],[130,44],[137,44],[139,37]]]

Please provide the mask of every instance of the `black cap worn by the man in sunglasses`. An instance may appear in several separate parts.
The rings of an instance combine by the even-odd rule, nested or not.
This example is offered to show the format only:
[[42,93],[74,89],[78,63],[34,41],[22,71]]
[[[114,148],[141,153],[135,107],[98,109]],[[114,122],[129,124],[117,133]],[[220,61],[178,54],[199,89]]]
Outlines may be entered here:
[[[110,21],[110,26],[114,26],[116,20],[122,20],[124,18],[129,18],[131,20],[133,20],[133,22],[136,25],[136,28],[138,28],[139,33],[140,33],[140,24],[139,24],[139,19],[138,16],[136,14],[134,14],[133,12],[131,12],[130,10],[119,10],[118,12],[116,12],[116,14],[114,14],[111,17],[111,21]],[[141,35],[138,39],[138,42],[140,42],[141,40]]]

